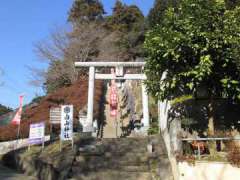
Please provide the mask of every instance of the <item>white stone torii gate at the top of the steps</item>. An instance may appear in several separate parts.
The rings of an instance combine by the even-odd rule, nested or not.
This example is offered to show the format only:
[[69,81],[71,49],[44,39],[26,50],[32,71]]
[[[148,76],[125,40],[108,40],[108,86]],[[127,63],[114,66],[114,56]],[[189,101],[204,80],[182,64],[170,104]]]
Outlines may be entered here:
[[[88,85],[88,106],[87,106],[87,129],[93,132],[93,102],[94,102],[94,81],[95,79],[102,80],[146,80],[145,74],[124,74],[124,67],[143,68],[145,62],[76,62],[76,68],[89,68],[89,85]],[[96,68],[108,67],[115,68],[115,74],[100,74],[96,73]],[[149,128],[149,109],[148,109],[148,94],[146,86],[142,83],[142,105],[143,105],[143,127],[142,132],[146,135]]]

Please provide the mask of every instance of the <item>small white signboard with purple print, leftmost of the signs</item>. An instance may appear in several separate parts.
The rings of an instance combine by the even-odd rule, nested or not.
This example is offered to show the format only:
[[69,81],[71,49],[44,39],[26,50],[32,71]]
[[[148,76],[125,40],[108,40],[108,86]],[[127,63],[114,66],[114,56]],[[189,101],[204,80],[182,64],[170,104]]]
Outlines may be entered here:
[[45,123],[30,124],[29,144],[41,144],[44,142]]

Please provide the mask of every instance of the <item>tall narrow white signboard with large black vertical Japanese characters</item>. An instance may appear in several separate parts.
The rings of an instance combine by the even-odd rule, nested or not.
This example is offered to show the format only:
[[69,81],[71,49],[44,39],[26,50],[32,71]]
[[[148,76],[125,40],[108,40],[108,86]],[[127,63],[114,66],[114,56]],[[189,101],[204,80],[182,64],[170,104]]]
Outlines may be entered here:
[[72,140],[73,105],[61,106],[61,140]]

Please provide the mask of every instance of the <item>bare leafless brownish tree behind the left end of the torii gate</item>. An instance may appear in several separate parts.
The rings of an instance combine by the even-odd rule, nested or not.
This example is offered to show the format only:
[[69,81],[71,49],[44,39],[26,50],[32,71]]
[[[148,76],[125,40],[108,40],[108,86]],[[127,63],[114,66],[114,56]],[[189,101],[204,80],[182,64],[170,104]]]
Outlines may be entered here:
[[[96,59],[100,42],[106,35],[106,31],[94,23],[74,25],[70,33],[63,30],[51,33],[49,39],[35,45],[36,54],[49,63],[49,68],[47,71],[28,68],[32,72],[30,83],[41,85],[58,80],[73,83],[78,78],[74,62]],[[78,73],[83,75],[87,72],[82,70]]]

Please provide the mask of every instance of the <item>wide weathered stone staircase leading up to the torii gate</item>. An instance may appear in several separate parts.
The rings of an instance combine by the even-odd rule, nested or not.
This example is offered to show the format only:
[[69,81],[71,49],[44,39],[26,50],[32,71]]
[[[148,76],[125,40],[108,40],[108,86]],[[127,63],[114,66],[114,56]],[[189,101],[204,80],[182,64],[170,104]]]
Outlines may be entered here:
[[[149,145],[153,152],[149,152]],[[151,148],[150,148],[151,149]],[[160,137],[97,139],[78,148],[70,179],[172,180],[170,163]]]

